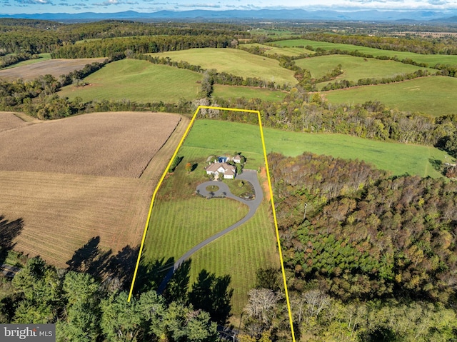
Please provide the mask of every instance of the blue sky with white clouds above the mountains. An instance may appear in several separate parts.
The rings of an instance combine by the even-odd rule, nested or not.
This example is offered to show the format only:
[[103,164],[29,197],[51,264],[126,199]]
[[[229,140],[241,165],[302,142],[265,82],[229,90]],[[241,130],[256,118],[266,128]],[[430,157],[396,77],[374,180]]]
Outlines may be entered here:
[[0,14],[80,13],[80,12],[155,12],[191,9],[332,9],[353,11],[457,9],[457,0],[0,0]]

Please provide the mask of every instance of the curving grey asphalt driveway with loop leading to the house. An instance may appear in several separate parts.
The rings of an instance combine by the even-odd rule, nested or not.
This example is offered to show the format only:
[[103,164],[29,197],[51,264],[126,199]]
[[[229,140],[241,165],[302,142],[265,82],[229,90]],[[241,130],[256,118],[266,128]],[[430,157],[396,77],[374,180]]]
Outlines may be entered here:
[[[166,274],[164,280],[161,282],[159,289],[157,290],[159,293],[162,293],[165,290],[166,284],[170,281],[176,269],[178,269],[179,266],[181,266],[181,263],[189,259],[192,256],[192,254],[196,253],[196,251],[199,251],[201,248],[204,248],[204,246],[208,245],[209,243],[215,241],[217,238],[224,236],[226,233],[230,233],[231,231],[233,231],[233,229],[238,228],[243,223],[246,223],[252,216],[254,216],[254,213],[256,213],[257,208],[258,206],[260,206],[260,203],[263,199],[263,191],[260,183],[258,183],[257,172],[245,170],[243,171],[243,173],[236,176],[236,179],[241,179],[243,181],[248,181],[249,183],[251,183],[254,188],[254,193],[256,194],[256,197],[251,200],[246,200],[238,196],[235,196],[233,195],[233,193],[231,193],[229,186],[227,186],[226,183],[222,183],[220,181],[206,181],[204,183],[201,183],[199,184],[199,186],[197,186],[197,191],[199,191],[199,193],[205,197],[212,196],[233,198],[236,201],[240,201],[241,203],[246,204],[246,206],[248,206],[249,208],[249,211],[246,214],[246,216],[241,218],[240,221],[233,223],[228,228],[225,228],[223,231],[219,231],[219,233],[216,233],[213,236],[207,238],[206,240],[201,241],[201,243],[189,249],[189,251],[187,251],[184,254],[184,256],[181,256],[181,258],[176,260],[176,262],[174,263],[174,267],[170,269],[169,273]],[[207,191],[206,187],[212,185],[217,186],[219,190],[213,192]]]

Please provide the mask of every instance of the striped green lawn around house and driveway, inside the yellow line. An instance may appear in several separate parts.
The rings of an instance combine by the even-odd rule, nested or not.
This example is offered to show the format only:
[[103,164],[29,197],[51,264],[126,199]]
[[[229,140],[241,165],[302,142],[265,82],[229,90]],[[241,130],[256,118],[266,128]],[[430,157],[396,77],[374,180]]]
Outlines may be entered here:
[[[231,199],[207,200],[195,195],[196,186],[208,180],[204,166],[211,155],[242,151],[247,159],[246,168],[254,169],[264,164],[258,127],[231,126],[240,131],[233,133],[236,141],[226,139],[229,144],[224,144],[224,139],[220,139],[220,129],[224,126],[212,126],[212,122],[196,121],[178,153],[184,159],[161,186],[146,234],[144,264],[163,257],[174,257],[176,260],[192,246],[231,226],[247,213],[247,206]],[[243,129],[250,130],[251,139],[247,144],[238,139]],[[215,136],[218,141],[213,141]],[[188,162],[196,164],[191,173],[184,170]],[[191,281],[195,281],[203,268],[216,273],[216,276],[229,274],[231,288],[234,289],[233,313],[239,315],[246,305],[246,294],[256,281],[259,267],[279,267],[273,223],[268,216],[268,201],[265,199],[251,220],[192,257]]]

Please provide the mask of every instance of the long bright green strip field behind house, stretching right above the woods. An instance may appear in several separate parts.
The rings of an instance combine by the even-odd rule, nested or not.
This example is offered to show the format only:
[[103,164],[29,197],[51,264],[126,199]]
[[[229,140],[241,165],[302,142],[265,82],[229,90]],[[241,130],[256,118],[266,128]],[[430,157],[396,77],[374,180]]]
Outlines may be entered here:
[[[219,131],[231,132],[233,139],[217,140],[216,136]],[[231,151],[236,149],[237,143],[238,146],[241,143],[244,150],[256,159],[251,161],[254,167],[248,166],[250,169],[254,169],[256,165],[260,164],[260,161],[263,161],[261,146],[255,144],[254,137],[258,134],[257,132],[258,126],[255,125],[197,120],[191,129],[191,133],[194,135],[186,139],[186,145],[205,149],[203,134],[207,134],[209,139],[214,139],[211,146],[214,149]],[[409,173],[423,177],[439,177],[440,173],[432,168],[429,159],[438,159],[443,162],[451,160],[451,156],[431,146],[376,141],[344,134],[308,134],[269,128],[263,129],[263,133],[267,153],[273,151],[286,156],[298,156],[309,151],[343,159],[359,159],[373,164],[378,169],[391,171],[394,175]]]

